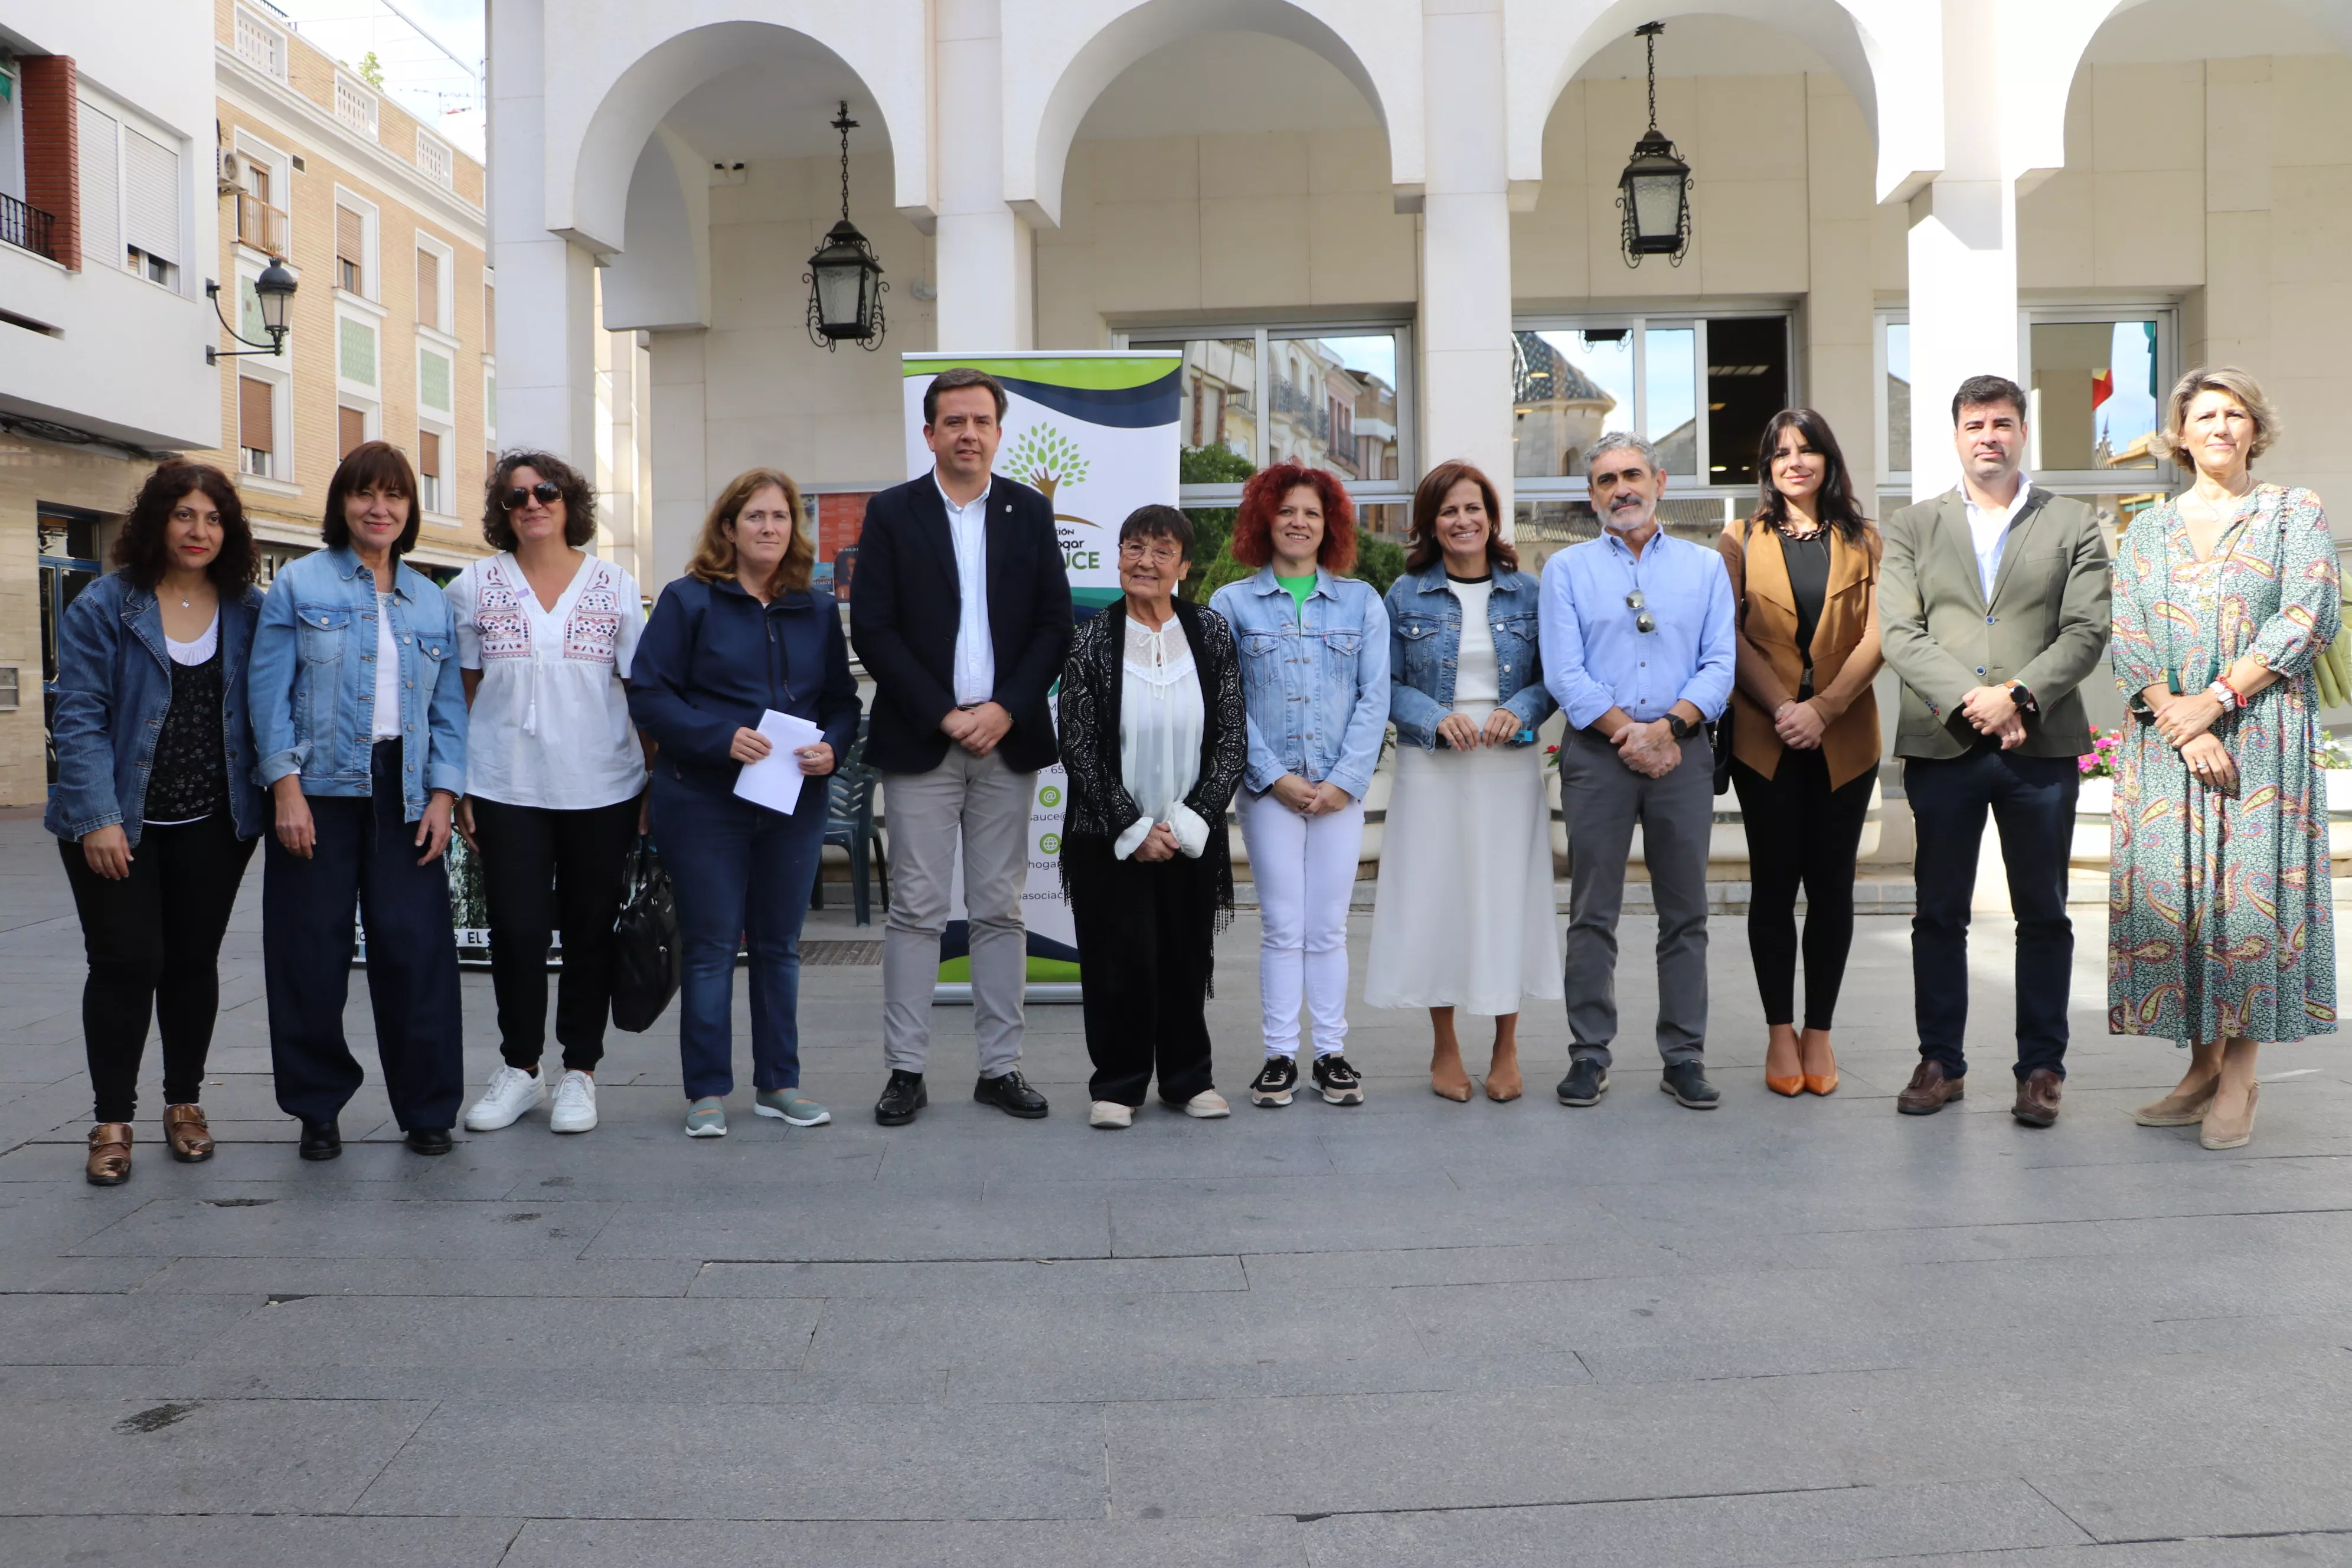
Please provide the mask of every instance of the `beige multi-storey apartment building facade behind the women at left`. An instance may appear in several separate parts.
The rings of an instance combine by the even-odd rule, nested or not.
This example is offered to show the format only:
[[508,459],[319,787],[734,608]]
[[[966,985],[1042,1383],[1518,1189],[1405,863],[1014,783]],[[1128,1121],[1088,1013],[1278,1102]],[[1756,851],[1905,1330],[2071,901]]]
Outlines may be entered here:
[[[482,480],[499,447],[496,280],[485,266],[485,172],[261,0],[216,0],[221,433],[205,456],[238,475],[270,562],[315,548],[346,451],[386,440],[419,473],[412,562],[454,571],[485,552]],[[296,275],[282,355],[254,282]],[[233,289],[230,289],[230,280]]]

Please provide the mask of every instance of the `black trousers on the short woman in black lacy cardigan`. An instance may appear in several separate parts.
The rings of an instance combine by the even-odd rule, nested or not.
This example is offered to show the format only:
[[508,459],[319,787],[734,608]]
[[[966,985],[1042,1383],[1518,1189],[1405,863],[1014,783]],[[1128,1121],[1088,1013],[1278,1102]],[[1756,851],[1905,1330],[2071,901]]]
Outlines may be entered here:
[[1089,1095],[1183,1105],[1216,1088],[1209,1067],[1209,976],[1216,914],[1211,870],[1200,860],[1112,860],[1105,846],[1073,846],[1070,914],[1087,1013]]

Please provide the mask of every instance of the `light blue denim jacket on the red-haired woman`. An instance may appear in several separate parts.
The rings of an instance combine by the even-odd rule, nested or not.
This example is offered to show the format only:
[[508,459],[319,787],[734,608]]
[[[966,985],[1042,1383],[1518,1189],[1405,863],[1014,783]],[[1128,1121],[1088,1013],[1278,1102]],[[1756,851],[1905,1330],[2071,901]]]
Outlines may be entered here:
[[1258,567],[1209,607],[1242,646],[1251,795],[1298,773],[1364,799],[1388,729],[1388,614],[1371,583],[1317,567],[1301,609],[1275,569]]

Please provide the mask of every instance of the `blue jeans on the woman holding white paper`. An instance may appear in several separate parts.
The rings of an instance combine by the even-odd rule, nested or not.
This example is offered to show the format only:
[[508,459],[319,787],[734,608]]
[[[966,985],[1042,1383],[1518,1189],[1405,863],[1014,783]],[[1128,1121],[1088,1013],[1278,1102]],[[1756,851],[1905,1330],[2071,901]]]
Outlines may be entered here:
[[823,844],[823,778],[802,783],[783,816],[654,764],[654,849],[687,938],[677,1060],[689,1100],[734,1088],[736,938],[750,952],[750,1081],[800,1088],[800,922]]

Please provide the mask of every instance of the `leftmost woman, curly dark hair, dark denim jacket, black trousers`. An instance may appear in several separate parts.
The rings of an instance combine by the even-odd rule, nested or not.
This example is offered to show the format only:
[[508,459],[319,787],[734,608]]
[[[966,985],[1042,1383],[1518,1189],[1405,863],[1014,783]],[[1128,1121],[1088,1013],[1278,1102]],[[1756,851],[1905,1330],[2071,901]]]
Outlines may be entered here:
[[56,835],[82,917],[82,1048],[96,1187],[132,1175],[148,1025],[162,1034],[162,1135],[212,1159],[198,1086],[221,1011],[221,933],[261,835],[245,656],[254,536],[219,468],[167,461],[139,489],[115,567],[66,607],[56,656]]

